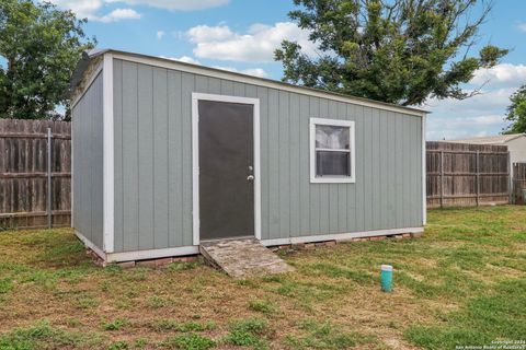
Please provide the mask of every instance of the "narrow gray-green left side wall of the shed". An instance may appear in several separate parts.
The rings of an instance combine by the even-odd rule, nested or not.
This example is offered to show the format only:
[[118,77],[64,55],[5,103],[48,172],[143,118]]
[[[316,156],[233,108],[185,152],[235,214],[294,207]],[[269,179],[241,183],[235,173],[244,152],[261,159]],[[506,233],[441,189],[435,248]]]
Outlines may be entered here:
[[102,73],[72,110],[75,229],[103,249]]

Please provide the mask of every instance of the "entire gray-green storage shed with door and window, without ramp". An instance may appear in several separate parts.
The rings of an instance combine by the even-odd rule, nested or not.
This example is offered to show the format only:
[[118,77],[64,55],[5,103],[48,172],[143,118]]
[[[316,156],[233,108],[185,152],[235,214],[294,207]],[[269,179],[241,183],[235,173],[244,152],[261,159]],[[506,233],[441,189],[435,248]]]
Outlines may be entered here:
[[423,110],[118,50],[71,97],[72,226],[106,261],[423,231]]

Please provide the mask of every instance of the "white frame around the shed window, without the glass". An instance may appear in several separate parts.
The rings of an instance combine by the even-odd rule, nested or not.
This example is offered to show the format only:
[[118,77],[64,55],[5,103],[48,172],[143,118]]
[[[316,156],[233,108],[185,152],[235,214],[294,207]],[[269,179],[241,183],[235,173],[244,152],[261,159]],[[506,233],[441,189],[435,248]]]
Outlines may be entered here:
[[[316,176],[316,126],[348,128],[351,148],[351,176]],[[310,118],[310,183],[311,184],[354,184],[356,183],[355,127],[353,120]]]

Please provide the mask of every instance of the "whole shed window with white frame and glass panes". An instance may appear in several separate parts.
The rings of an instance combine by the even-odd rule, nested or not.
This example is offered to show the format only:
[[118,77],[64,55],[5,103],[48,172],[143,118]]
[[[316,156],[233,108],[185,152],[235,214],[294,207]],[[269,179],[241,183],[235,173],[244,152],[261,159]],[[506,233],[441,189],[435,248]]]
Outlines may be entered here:
[[354,121],[310,119],[310,182],[354,183]]

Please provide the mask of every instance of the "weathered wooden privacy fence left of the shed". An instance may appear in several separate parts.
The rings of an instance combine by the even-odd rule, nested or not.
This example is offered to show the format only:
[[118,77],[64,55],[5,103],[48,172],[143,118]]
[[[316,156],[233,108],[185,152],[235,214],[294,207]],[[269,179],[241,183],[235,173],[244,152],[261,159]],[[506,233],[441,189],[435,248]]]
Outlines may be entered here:
[[0,229],[69,226],[70,122],[0,119]]

